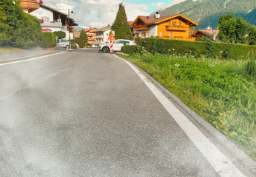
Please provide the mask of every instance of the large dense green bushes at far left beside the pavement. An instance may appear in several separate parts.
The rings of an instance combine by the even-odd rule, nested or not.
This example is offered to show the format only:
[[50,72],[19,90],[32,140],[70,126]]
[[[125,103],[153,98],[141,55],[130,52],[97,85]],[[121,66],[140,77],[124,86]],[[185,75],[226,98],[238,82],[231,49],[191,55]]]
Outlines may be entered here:
[[0,1],[0,46],[29,48],[41,44],[40,21],[24,13],[19,1]]

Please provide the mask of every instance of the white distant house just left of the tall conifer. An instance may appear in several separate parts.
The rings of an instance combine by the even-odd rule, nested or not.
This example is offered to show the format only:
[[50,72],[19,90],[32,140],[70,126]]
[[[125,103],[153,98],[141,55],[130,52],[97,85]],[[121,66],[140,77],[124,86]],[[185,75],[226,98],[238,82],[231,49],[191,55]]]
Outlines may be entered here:
[[93,38],[95,38],[95,41],[93,41],[92,44],[98,46],[99,44],[103,44],[108,41],[107,38],[109,38],[110,36],[111,26],[108,25],[107,27],[94,30],[93,32],[95,33],[95,36],[93,36]]

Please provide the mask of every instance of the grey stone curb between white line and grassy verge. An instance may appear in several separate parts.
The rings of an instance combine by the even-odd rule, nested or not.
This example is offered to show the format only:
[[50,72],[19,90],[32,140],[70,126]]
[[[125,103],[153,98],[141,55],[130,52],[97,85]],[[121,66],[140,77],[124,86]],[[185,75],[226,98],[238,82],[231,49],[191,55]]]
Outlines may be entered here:
[[[117,55],[115,55],[119,58]],[[122,58],[123,60],[126,60]],[[246,176],[256,176],[256,163],[240,150],[234,143],[230,142],[222,133],[220,133],[216,128],[206,122],[202,117],[192,111],[187,105],[185,105],[178,97],[172,94],[168,89],[158,83],[153,77],[146,73],[139,66],[136,66],[134,63],[127,60],[132,66],[135,66],[141,73],[143,73],[152,83],[163,93],[165,96],[174,103],[183,114],[189,119],[192,124],[194,124],[198,130],[206,136],[210,142],[212,142],[220,152],[225,154],[226,157],[235,164],[236,167],[240,169]]]

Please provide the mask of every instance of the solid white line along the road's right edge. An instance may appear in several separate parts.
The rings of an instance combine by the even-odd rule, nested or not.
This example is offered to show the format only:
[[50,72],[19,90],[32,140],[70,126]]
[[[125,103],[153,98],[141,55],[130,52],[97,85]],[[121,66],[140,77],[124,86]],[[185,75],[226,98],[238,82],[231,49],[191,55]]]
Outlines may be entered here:
[[[119,58],[118,56],[114,55],[116,58]],[[212,167],[215,168],[215,171],[222,177],[245,177],[243,173],[238,170],[237,167],[235,167],[232,162],[218,150],[218,147],[216,147],[212,142],[209,141],[209,139],[206,138],[206,136],[201,133],[201,131],[198,130],[198,128],[195,127],[195,125],[189,121],[188,118],[184,114],[181,113],[181,111],[178,110],[178,108],[175,107],[175,105],[172,104],[165,96],[164,94],[159,91],[152,82],[150,82],[144,74],[142,74],[138,69],[135,68],[131,63],[129,63],[127,60],[124,60],[123,58],[119,58],[120,60],[123,60],[125,63],[127,63],[135,72],[138,74],[139,77],[141,77],[141,80],[144,81],[146,86],[152,91],[152,93],[157,97],[157,99],[160,101],[160,103],[164,106],[166,111],[169,112],[169,114],[175,119],[175,121],[180,125],[180,127],[183,129],[183,131],[186,133],[187,136],[189,136],[189,139],[194,142],[195,146],[198,147],[198,150],[201,151],[203,156],[206,157],[208,162],[212,165]]]

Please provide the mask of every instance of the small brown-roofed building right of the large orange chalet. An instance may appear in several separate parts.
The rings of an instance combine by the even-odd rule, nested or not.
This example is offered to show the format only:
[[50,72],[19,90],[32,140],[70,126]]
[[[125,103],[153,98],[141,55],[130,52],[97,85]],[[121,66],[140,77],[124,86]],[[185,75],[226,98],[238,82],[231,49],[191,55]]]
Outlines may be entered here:
[[212,28],[208,28],[207,30],[197,30],[189,36],[195,38],[195,41],[201,41],[201,38],[204,36],[206,38],[212,39],[212,41],[220,42],[218,39],[218,33],[219,30],[217,29],[212,30]]

